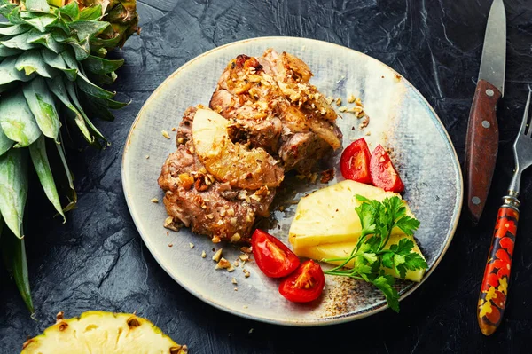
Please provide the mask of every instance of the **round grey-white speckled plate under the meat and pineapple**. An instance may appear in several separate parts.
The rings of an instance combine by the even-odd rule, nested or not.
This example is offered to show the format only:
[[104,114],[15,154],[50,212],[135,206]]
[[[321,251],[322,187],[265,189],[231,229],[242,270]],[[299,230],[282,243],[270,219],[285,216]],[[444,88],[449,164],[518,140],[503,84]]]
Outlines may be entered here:
[[[314,73],[311,83],[326,96],[340,97],[344,102],[350,94],[362,98],[370,124],[363,132],[354,115],[340,114],[343,144],[348,146],[369,131],[371,135],[365,138],[373,147],[381,143],[393,149],[392,159],[406,185],[404,198],[421,222],[416,238],[429,266],[424,279],[440,263],[458,224],[463,193],[458,159],[442,122],[419,91],[390,67],[358,51],[303,38],[254,38],[207,51],[178,68],[153,92],[129,132],[122,161],[124,193],[138,232],[155,259],[181,286],[235,315],[288,326],[321,326],[382,311],[387,304],[379,291],[351,279],[327,276],[322,298],[301,305],[278,295],[278,280],[265,277],[256,264],[246,264],[249,278],[244,277],[241,267],[234,272],[215,271],[213,248],[223,248],[223,255],[231,262],[239,256],[239,248],[215,245],[188,229],[168,232],[162,226],[167,217],[162,202],[150,201],[162,200],[157,178],[168,153],[176,150],[171,129],[177,127],[186,107],[208,105],[230,59],[242,53],[260,56],[267,48],[303,59]],[[161,130],[168,130],[171,139],[163,138]],[[339,159],[337,153],[324,167],[337,168]],[[290,201],[323,186],[288,181],[286,198],[278,201],[286,208],[272,213],[277,223],[271,225],[270,232],[287,243],[296,207]],[[207,252],[206,258],[201,257],[202,250]],[[233,277],[238,291],[231,283]],[[398,282],[397,287],[404,298],[421,283]]]

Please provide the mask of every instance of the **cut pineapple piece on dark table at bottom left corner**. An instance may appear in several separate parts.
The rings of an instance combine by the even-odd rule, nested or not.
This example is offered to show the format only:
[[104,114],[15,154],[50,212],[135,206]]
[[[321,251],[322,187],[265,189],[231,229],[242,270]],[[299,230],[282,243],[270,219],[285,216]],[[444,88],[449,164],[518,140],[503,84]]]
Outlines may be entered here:
[[24,343],[20,354],[186,354],[186,345],[172,341],[147,319],[129,313],[87,311],[63,319]]

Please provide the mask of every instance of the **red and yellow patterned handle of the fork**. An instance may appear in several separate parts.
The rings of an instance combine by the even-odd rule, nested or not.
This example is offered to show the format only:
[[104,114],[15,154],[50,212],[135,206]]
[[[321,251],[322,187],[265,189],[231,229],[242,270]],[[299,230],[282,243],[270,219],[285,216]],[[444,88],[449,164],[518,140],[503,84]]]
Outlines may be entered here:
[[477,307],[479,326],[485,335],[495,332],[505,312],[518,220],[517,208],[499,208]]

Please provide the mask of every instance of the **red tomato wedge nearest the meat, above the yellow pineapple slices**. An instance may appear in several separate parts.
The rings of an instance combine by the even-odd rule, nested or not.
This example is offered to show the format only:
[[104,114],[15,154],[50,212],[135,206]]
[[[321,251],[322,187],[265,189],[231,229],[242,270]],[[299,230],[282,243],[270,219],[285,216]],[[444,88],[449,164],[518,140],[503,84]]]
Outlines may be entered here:
[[370,149],[364,138],[355,140],[341,153],[340,169],[341,175],[346,179],[365,184],[372,183]]

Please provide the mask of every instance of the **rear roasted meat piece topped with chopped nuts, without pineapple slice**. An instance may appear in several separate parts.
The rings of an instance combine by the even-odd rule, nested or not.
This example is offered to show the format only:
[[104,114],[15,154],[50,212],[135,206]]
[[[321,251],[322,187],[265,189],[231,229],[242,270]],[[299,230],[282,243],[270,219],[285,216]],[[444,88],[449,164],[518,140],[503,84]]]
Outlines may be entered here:
[[218,81],[210,107],[231,121],[231,138],[262,147],[286,170],[306,174],[341,146],[337,114],[291,54],[239,55]]

